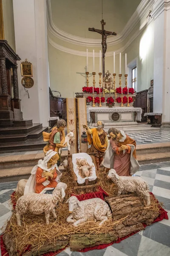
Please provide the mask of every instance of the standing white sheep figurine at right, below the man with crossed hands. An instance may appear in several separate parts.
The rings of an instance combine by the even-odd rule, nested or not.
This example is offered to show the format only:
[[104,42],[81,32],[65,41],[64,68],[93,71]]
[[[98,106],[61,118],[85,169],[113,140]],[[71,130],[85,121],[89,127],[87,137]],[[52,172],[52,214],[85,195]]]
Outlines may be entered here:
[[147,205],[150,205],[149,185],[141,177],[119,176],[115,169],[111,169],[107,178],[113,180],[118,186],[118,195],[121,195],[124,190],[127,192],[136,192],[140,197],[146,199]]

